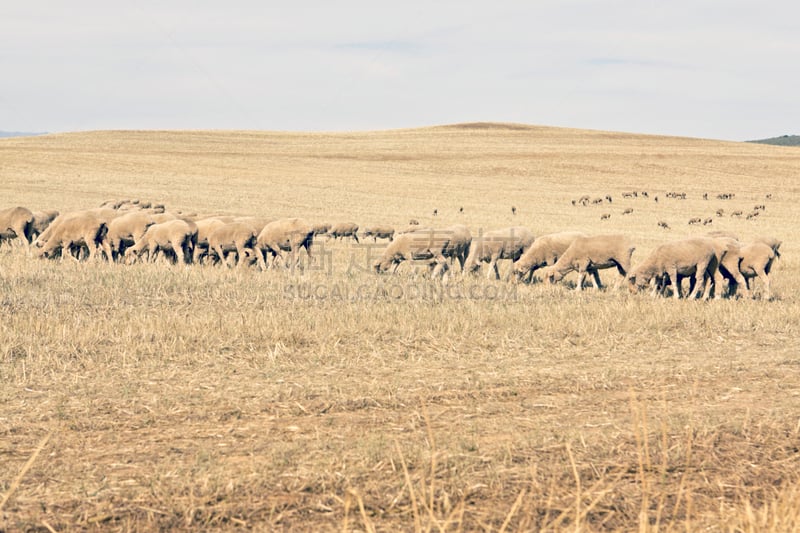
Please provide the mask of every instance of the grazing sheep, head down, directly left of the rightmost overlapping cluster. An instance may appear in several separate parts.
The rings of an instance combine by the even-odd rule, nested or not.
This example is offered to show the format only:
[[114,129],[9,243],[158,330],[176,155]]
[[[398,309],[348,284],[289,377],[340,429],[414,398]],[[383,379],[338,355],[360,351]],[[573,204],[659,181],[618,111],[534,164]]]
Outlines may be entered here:
[[630,270],[634,249],[624,235],[577,237],[553,266],[542,269],[542,276],[555,283],[575,270],[579,276],[576,290],[583,290],[586,274],[592,274],[594,286],[599,289],[601,283],[597,271],[616,267],[624,279]]

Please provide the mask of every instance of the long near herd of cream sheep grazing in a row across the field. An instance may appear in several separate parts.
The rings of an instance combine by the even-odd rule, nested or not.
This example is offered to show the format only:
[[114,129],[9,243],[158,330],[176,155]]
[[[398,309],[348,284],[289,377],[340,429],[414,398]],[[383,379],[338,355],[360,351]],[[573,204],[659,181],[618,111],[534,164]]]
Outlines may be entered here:
[[[682,296],[689,278],[690,298],[753,295],[751,280],[763,282],[770,297],[769,273],[780,257],[781,241],[761,237],[741,242],[726,232],[657,246],[632,268],[634,245],[621,234],[561,232],[534,237],[514,226],[477,235],[464,225],[422,227],[415,220],[396,230],[388,226],[359,228],[355,223],[314,224],[300,218],[267,219],[228,215],[198,217],[168,212],[163,205],[138,200],[105,202],[98,208],[59,214],[25,207],[0,209],[0,246],[14,239],[28,243],[40,258],[108,260],[125,264],[155,261],[159,255],[176,263],[257,266],[262,270],[299,265],[302,250],[313,261],[315,239],[386,239],[372,264],[375,272],[397,271],[403,262],[422,262],[432,277],[460,266],[463,274],[487,264],[487,275],[500,279],[498,261],[512,262],[506,279],[530,283],[534,275],[551,283],[577,272],[577,290],[590,276],[600,288],[598,271],[616,268],[632,291],[650,287],[654,295],[671,290]],[[672,286],[671,289],[669,287]]]

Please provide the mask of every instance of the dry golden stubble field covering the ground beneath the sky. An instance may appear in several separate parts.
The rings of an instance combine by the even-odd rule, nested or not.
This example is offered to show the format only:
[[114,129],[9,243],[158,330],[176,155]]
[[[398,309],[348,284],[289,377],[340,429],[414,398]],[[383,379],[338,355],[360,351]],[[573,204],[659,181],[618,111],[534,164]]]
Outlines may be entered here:
[[0,208],[784,243],[771,299],[708,302],[378,276],[380,243],[302,274],[4,246],[0,530],[797,531],[799,178],[797,148],[502,124],[0,140]]

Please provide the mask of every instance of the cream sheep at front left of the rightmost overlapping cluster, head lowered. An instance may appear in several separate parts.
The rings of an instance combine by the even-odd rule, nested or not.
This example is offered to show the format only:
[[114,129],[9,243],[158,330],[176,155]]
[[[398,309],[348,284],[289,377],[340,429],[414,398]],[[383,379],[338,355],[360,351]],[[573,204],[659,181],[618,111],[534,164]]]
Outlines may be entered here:
[[707,237],[661,244],[628,275],[631,292],[637,292],[653,282],[658,287],[666,283],[668,278],[675,287],[673,296],[678,299],[682,296],[681,279],[692,276],[694,282],[689,289],[689,297],[695,298],[701,286],[704,286],[703,298],[708,299],[711,294],[711,283],[708,281],[717,276],[719,254],[719,246],[715,245],[714,239]]

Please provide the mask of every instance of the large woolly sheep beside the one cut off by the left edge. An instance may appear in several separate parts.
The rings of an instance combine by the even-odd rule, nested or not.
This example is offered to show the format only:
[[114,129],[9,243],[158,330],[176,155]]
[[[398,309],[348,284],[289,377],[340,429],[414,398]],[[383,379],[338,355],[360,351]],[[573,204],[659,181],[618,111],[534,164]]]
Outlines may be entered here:
[[76,211],[56,217],[48,228],[36,239],[35,245],[39,250],[39,257],[55,257],[61,253],[62,259],[78,257],[71,255],[74,247],[86,248],[89,259],[97,257],[98,250],[102,250],[111,257],[111,249],[105,241],[108,232],[109,220],[103,212],[97,210]]

